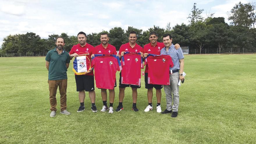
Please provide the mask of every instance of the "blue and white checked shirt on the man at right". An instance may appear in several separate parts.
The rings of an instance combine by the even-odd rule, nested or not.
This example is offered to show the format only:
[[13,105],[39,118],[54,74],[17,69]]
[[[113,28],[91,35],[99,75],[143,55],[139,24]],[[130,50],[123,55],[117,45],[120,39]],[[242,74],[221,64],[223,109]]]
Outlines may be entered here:
[[166,47],[162,48],[160,51],[160,55],[169,55],[172,58],[173,61],[173,67],[170,67],[170,70],[175,71],[179,70],[179,60],[183,59],[183,52],[182,49],[175,49],[174,45],[172,44],[168,51],[166,51]]

